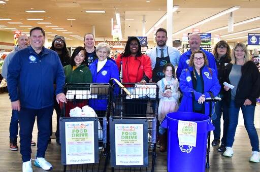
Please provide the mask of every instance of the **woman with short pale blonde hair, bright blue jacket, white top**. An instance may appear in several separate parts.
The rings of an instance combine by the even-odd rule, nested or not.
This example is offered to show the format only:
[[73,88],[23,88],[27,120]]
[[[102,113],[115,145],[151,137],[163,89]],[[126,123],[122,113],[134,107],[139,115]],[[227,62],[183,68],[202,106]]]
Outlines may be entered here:
[[[111,51],[109,45],[107,43],[100,43],[96,46],[95,51],[99,59],[96,59],[89,65],[92,74],[92,83],[109,83],[111,78],[120,81],[115,61],[108,58]],[[89,100],[89,106],[95,110],[95,113],[99,117],[105,116],[107,104],[106,98]]]

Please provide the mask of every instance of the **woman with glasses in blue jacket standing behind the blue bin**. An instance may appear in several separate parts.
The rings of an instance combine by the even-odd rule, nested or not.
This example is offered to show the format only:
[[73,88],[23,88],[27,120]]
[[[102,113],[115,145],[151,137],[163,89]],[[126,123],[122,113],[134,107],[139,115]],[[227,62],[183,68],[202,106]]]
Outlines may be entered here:
[[208,59],[203,51],[196,50],[191,54],[189,67],[180,76],[183,97],[178,111],[209,115],[210,104],[205,103],[205,99],[218,95],[220,85],[215,70],[207,64]]

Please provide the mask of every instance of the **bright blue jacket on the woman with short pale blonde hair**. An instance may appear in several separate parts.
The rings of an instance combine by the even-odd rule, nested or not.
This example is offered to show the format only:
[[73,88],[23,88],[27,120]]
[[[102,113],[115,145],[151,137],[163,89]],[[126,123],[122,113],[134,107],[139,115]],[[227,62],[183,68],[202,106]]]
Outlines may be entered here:
[[[96,59],[89,65],[89,69],[92,74],[92,83],[109,83],[111,78],[115,78],[118,81],[120,81],[118,68],[114,60],[112,61],[108,59],[106,64],[102,67],[102,69],[99,72],[97,72],[98,61],[99,60]],[[89,106],[94,110],[107,110],[107,99],[104,98],[105,97],[98,100],[90,99]]]

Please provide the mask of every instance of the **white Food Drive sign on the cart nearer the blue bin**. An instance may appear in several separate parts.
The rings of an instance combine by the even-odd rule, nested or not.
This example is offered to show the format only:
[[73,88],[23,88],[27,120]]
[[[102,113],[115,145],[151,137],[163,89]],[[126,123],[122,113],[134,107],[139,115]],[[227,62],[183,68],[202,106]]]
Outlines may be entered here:
[[116,165],[143,165],[143,124],[115,124]]

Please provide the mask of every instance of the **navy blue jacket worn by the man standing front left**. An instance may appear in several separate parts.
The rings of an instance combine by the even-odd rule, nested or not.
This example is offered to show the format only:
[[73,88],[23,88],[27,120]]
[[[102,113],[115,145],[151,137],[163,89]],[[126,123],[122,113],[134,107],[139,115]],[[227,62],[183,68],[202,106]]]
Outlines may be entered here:
[[21,107],[42,109],[53,105],[55,94],[63,92],[65,75],[58,54],[45,47],[37,54],[30,46],[15,53],[8,66],[8,90],[11,101]]

